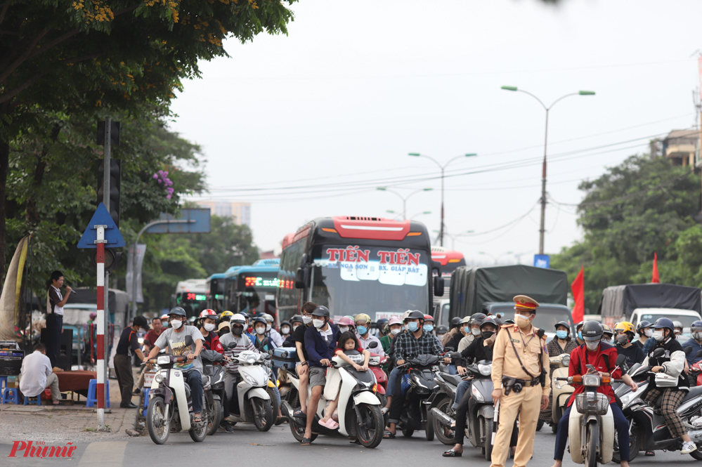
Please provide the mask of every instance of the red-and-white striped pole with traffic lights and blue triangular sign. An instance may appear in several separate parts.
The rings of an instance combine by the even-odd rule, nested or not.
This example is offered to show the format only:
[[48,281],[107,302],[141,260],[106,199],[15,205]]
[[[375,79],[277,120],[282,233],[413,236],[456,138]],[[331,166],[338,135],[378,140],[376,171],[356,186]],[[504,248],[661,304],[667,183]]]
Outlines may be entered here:
[[[110,142],[112,141],[112,118],[105,117],[105,169],[103,171],[103,204],[110,212]],[[103,230],[103,236],[100,237],[100,230]],[[98,399],[98,429],[105,429],[105,406],[106,395],[105,384],[108,382],[108,348],[105,346],[105,336],[109,336],[109,289],[110,289],[110,273],[105,272],[105,244],[104,244],[104,228],[98,228],[98,384],[97,384],[97,399]],[[103,242],[100,242],[100,241]],[[103,287],[100,287],[100,282],[103,282]],[[103,306],[100,307],[100,301]],[[102,334],[102,338],[100,338]],[[102,362],[102,365],[100,365]]]

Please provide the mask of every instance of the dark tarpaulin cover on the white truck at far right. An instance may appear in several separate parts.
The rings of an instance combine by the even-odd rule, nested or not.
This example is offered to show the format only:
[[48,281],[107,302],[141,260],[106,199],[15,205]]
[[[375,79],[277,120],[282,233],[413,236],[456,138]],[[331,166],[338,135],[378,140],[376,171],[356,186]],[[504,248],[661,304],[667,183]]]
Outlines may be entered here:
[[702,313],[700,289],[675,284],[629,284],[602,291],[602,317],[630,317],[637,308],[677,308]]

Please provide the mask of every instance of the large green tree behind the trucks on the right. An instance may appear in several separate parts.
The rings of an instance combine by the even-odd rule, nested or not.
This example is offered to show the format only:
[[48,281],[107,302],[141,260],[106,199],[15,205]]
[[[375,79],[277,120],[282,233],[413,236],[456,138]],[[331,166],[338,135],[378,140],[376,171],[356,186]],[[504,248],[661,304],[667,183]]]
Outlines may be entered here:
[[595,313],[602,290],[649,282],[654,252],[661,282],[702,283],[701,195],[698,176],[670,159],[632,156],[583,182],[578,224],[583,240],[552,258],[571,281],[585,266],[585,307]]

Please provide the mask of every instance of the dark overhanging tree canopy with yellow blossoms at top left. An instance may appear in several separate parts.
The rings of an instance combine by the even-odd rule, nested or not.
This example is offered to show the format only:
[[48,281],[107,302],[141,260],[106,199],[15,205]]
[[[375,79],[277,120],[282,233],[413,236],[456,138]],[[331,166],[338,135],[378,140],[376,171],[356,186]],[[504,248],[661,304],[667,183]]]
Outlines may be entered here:
[[290,20],[278,0],[0,3],[0,271],[10,144],[22,131],[47,112],[167,106],[181,79],[199,76],[198,60],[227,55],[226,37],[286,33]]

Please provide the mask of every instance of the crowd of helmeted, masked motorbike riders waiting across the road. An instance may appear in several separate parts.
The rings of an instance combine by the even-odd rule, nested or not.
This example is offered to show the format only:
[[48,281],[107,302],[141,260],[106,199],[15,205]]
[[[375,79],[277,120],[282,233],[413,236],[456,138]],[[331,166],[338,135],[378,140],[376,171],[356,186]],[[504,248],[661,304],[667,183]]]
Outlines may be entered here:
[[[317,413],[317,406],[325,385],[325,371],[330,367],[330,359],[335,355],[341,355],[344,348],[358,349],[365,355],[362,364],[352,362],[353,367],[358,371],[369,370],[369,351],[384,357],[382,371],[386,375],[384,379],[386,387],[379,388],[378,392],[382,393],[382,414],[386,424],[383,436],[385,439],[395,438],[398,428],[403,431],[403,435],[411,436],[413,429],[411,421],[407,418],[412,417],[412,410],[408,410],[405,403],[405,399],[409,396],[408,385],[403,376],[408,374],[410,363],[421,366],[422,363],[417,362],[417,358],[433,355],[436,357],[434,360],[425,362],[425,366],[431,368],[429,378],[436,373],[443,374],[444,377],[439,376],[437,380],[441,380],[444,384],[438,386],[434,384],[431,390],[441,392],[446,388],[446,381],[449,381],[453,384],[452,393],[441,408],[445,416],[441,418],[440,423],[431,421],[430,412],[420,414],[419,418],[425,423],[424,429],[427,432],[435,431],[442,442],[453,445],[443,453],[443,456],[461,456],[464,437],[472,428],[473,421],[470,419],[471,414],[474,413],[472,408],[482,397],[476,394],[479,393],[479,389],[475,388],[475,381],[481,373],[477,367],[481,364],[483,366],[489,364],[493,360],[493,344],[502,329],[511,326],[515,326],[516,329],[514,320],[502,321],[499,315],[483,313],[464,318],[454,317],[450,320],[450,327],[437,327],[431,315],[424,315],[417,310],[408,310],[401,317],[393,316],[389,320],[381,319],[375,323],[371,322],[370,316],[365,313],[344,316],[334,323],[330,319],[327,308],[310,302],[305,303],[300,312],[289,322],[280,323],[278,329],[271,315],[249,317],[247,313],[230,311],[224,311],[218,316],[214,310],[204,310],[199,320],[193,323],[202,334],[200,336],[196,333],[202,344],[198,342],[197,346],[193,346],[195,349],[187,355],[188,361],[198,359],[200,351],[205,349],[215,350],[224,355],[223,365],[226,367],[228,381],[223,394],[224,416],[221,428],[227,433],[233,432],[231,423],[227,419],[229,415],[227,401],[236,397],[236,383],[240,381],[238,364],[233,357],[242,351],[252,350],[256,353],[272,354],[275,348],[294,348],[298,361],[294,370],[288,371],[291,373],[294,371],[299,378],[299,399],[296,399],[296,402],[299,400],[299,405],[294,407],[292,416],[303,423],[306,422],[304,436],[301,439],[302,445],[310,445],[313,440],[312,417],[308,417],[308,414]],[[167,320],[167,327],[175,331],[188,322],[186,313],[178,307],[172,309],[162,319]],[[562,321],[555,325],[553,331],[555,336],[547,343],[544,350],[551,359],[559,355],[568,355],[569,362],[566,363],[568,376],[598,373],[612,380],[621,379],[625,386],[628,386],[624,388],[623,393],[627,391],[635,393],[639,390],[639,385],[642,385],[643,392],[639,391],[639,397],[650,410],[663,417],[670,439],[665,447],[660,447],[665,443],[661,444],[661,441],[657,440],[659,447],[651,446],[648,449],[649,446],[645,445],[643,440],[639,440],[633,446],[634,448],[638,447],[641,452],[645,452],[646,456],[654,456],[656,449],[679,449],[681,454],[691,454],[696,459],[702,460],[702,456],[696,451],[696,442],[688,435],[688,430],[693,429],[691,421],[695,421],[695,416],[702,420],[700,416],[702,412],[699,408],[702,405],[701,391],[695,392],[696,397],[701,399],[701,403],[696,405],[698,413],[693,414],[692,417],[687,416],[683,421],[678,410],[681,402],[683,400],[687,402],[686,397],[689,398],[692,395],[690,388],[698,386],[698,376],[702,382],[701,369],[698,365],[702,360],[702,321],[696,321],[691,325],[691,338],[683,336],[680,322],[674,322],[666,317],[661,317],[654,323],[639,322],[636,328],[630,322],[619,322],[613,329],[597,321],[580,322],[575,326],[575,335],[572,333],[571,324]],[[339,347],[337,343],[339,346],[346,347]],[[162,346],[167,346],[167,343],[159,344],[157,342],[150,355],[144,358],[145,363],[155,357]],[[553,371],[552,365],[550,376]],[[637,381],[632,379],[631,374],[639,375]],[[277,376],[276,372],[271,377],[273,382],[276,381]],[[489,371],[487,375],[483,372],[482,376],[487,376],[489,380]],[[202,383],[198,377],[188,378],[188,383],[193,393],[194,421],[197,423],[202,412],[200,402]],[[644,383],[646,383],[645,389]],[[280,384],[279,380],[278,384]],[[278,384],[273,385],[277,399],[275,404],[277,410],[274,414],[276,425],[287,421],[280,411]],[[583,390],[582,386],[578,387],[576,384],[573,386],[576,386],[573,390],[574,395]],[[632,417],[623,412],[619,390],[615,394],[613,386],[602,385],[597,388],[597,392],[609,398],[617,433],[618,460],[626,467],[628,461],[636,455],[629,449]],[[447,399],[446,394],[443,394],[443,399]],[[568,419],[573,408],[573,397],[568,399],[567,408],[560,420],[552,419],[554,403],[552,399],[549,400],[547,407],[544,408],[542,405],[539,416],[538,429],[543,423],[548,423],[552,425],[554,433],[557,433],[554,467],[561,466],[568,439]],[[629,400],[631,397],[628,397],[627,401]],[[334,411],[334,407],[331,406],[331,412]],[[434,413],[438,414],[436,411]],[[335,419],[338,417],[327,414],[319,423],[333,430],[339,426]],[[442,424],[441,421],[444,423]],[[694,428],[702,428],[702,421],[694,425]],[[416,425],[415,429],[417,429]],[[512,456],[514,456],[518,430],[515,423],[512,442],[510,442]],[[474,445],[481,447],[483,452],[486,451],[488,444],[484,435],[485,433],[481,438],[482,442],[481,440],[472,441]],[[475,436],[475,433],[472,436]],[[427,438],[429,438],[428,434]],[[700,439],[696,438],[696,440]]]

